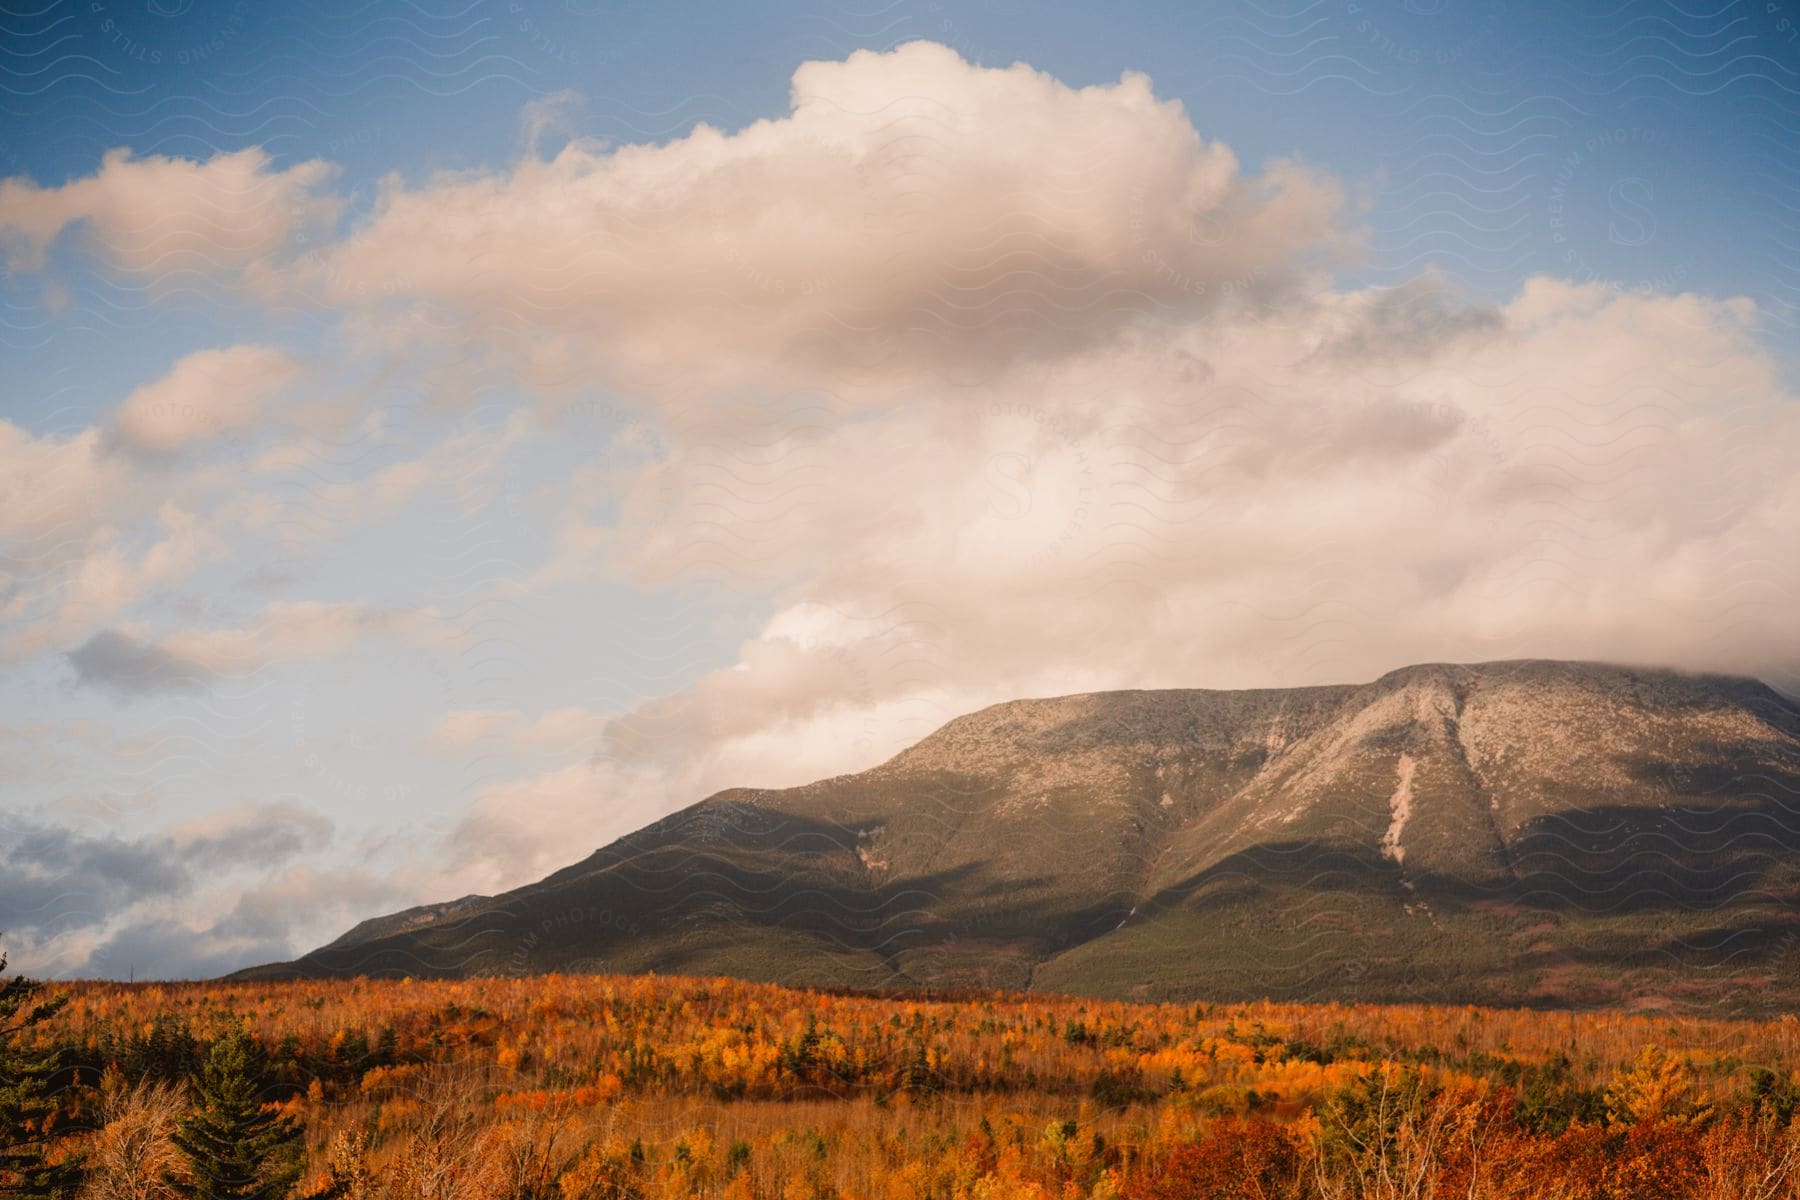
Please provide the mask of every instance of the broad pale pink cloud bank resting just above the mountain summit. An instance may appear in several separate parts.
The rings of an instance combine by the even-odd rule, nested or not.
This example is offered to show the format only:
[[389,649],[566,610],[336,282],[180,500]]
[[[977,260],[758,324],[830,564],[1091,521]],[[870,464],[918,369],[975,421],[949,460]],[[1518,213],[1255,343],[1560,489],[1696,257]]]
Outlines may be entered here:
[[792,660],[797,631],[833,613],[810,658],[857,653],[844,617],[868,649],[902,604],[929,610],[925,678],[999,694],[1094,664],[1118,685],[1514,653],[1800,669],[1795,570],[1768,554],[1800,540],[1800,408],[1744,304],[1537,281],[1346,351],[1391,302],[1125,336],[979,405],[758,446],[763,471],[677,448],[634,480],[616,561],[808,601],[695,691],[769,720],[808,680],[851,685]]

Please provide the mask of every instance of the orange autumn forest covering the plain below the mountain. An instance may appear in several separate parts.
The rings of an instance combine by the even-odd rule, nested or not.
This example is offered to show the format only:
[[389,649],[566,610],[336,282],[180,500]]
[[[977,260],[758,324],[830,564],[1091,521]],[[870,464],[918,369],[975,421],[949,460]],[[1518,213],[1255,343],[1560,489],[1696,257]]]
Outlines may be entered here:
[[7,993],[25,1195],[1800,1195],[1793,1018],[572,975]]

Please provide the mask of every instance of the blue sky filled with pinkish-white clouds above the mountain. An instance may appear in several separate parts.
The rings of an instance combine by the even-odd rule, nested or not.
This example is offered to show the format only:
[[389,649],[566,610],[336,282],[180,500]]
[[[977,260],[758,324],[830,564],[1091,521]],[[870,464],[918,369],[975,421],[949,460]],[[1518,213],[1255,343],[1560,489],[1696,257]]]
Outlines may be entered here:
[[1800,5],[0,13],[0,930],[196,977],[1111,687],[1800,687]]

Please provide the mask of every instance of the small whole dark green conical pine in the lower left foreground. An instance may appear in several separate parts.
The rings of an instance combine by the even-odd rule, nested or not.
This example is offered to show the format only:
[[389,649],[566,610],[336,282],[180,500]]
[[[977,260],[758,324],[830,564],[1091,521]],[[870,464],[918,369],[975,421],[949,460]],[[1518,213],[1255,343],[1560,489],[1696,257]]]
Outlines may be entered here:
[[194,1110],[175,1133],[193,1200],[283,1200],[301,1178],[301,1126],[263,1106],[256,1043],[241,1029],[212,1043],[194,1079]]

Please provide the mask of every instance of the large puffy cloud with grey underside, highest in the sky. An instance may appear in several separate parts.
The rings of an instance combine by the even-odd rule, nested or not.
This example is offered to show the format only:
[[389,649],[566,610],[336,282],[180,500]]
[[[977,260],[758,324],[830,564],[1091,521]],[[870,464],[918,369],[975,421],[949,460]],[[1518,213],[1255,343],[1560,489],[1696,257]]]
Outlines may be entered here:
[[889,387],[1273,300],[1348,246],[1337,209],[1296,164],[1240,173],[1143,76],[918,41],[803,65],[792,112],[738,133],[389,182],[315,282],[387,329],[425,306],[551,392]]

